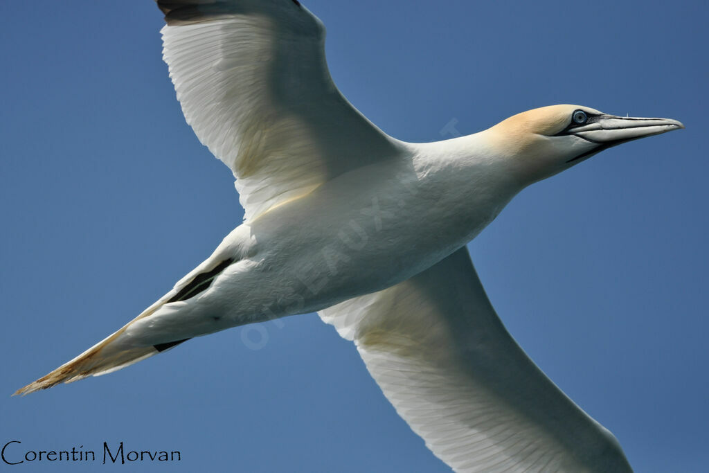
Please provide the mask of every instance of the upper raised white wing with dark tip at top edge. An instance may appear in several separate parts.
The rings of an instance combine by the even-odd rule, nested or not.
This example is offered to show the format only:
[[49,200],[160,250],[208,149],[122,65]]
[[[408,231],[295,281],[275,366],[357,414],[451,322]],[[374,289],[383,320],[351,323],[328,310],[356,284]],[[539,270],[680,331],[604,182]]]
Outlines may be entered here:
[[298,1],[157,4],[184,116],[232,169],[247,220],[396,152],[335,87],[325,28]]

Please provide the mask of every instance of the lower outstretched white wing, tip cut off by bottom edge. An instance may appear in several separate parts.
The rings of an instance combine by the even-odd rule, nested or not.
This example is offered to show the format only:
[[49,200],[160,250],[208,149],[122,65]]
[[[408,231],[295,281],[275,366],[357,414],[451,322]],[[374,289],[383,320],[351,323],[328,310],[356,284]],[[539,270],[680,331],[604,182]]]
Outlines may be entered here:
[[467,249],[320,313],[354,340],[386,397],[457,472],[630,472],[617,440],[502,325]]

